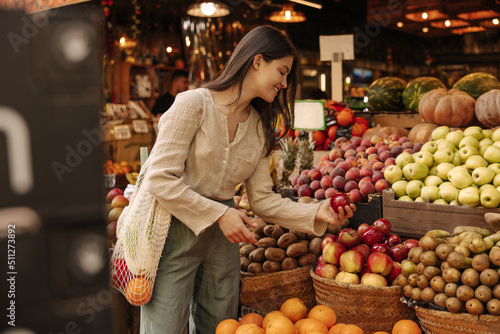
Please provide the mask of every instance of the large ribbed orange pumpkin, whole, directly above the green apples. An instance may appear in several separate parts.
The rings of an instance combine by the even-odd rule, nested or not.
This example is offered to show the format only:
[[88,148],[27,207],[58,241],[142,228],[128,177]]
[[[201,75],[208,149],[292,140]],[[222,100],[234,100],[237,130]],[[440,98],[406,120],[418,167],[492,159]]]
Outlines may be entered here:
[[473,97],[457,89],[433,89],[418,104],[420,117],[428,123],[465,126],[474,120]]

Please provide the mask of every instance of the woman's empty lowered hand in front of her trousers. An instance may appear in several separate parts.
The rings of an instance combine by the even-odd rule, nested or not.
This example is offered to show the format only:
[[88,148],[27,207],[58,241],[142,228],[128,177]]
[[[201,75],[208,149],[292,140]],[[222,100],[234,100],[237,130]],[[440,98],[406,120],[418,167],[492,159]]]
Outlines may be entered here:
[[250,242],[257,245],[257,240],[245,226],[247,224],[251,227],[257,227],[257,224],[240,210],[227,209],[217,222],[222,233],[231,243]]

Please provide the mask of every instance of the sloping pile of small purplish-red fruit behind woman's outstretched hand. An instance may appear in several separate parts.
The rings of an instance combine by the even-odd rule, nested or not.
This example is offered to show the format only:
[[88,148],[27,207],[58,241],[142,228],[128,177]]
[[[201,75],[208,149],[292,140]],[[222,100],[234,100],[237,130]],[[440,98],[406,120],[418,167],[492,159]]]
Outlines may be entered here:
[[381,193],[390,184],[384,178],[387,166],[396,164],[402,152],[413,154],[414,144],[408,137],[395,134],[377,140],[340,137],[329,153],[313,169],[304,170],[292,179],[295,195],[318,200],[335,193],[348,194],[351,202],[367,202],[368,196]]

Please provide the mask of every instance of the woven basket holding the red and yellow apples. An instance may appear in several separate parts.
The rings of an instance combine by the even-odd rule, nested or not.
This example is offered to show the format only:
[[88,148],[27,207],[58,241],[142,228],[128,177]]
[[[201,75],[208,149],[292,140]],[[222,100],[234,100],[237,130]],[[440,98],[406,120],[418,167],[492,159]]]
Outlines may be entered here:
[[340,283],[310,272],[313,278],[316,302],[330,306],[337,315],[337,323],[354,324],[365,334],[377,331],[391,333],[394,324],[414,317],[415,311],[402,302],[399,286],[374,287],[362,284]]

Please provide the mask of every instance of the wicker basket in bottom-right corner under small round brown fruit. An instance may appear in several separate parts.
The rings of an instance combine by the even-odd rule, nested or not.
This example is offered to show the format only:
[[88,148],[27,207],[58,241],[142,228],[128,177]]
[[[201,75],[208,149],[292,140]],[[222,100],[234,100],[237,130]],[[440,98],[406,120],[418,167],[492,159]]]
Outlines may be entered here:
[[498,334],[500,333],[500,316],[468,313],[450,313],[448,311],[431,310],[415,307],[420,326],[428,334]]

